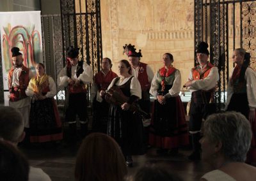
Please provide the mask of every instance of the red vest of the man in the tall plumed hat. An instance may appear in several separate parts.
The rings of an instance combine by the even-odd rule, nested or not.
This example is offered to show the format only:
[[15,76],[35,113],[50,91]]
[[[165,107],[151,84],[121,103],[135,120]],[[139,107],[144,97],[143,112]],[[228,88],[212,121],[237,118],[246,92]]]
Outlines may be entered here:
[[140,62],[138,71],[138,80],[141,85],[141,91],[148,91],[150,89],[150,83],[148,82],[147,64]]

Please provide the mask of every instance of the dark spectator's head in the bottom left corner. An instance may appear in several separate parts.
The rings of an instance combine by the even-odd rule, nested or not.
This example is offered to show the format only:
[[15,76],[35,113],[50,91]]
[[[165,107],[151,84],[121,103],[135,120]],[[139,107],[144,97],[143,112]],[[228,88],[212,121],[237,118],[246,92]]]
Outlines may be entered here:
[[3,181],[28,181],[26,157],[7,141],[0,141],[0,175]]

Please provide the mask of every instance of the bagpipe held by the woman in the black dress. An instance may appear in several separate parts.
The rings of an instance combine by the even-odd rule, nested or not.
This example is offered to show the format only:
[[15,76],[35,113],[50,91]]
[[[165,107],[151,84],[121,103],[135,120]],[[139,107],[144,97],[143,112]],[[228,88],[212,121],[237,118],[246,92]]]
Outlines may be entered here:
[[[111,89],[106,91],[105,99],[108,103],[120,106],[124,103],[127,103],[127,101],[129,100],[129,98],[125,96],[121,89],[118,87],[111,87]],[[142,115],[143,117],[148,115],[148,113],[141,110],[140,106],[135,103],[132,103],[130,105],[129,111],[133,113],[140,113],[140,115]]]

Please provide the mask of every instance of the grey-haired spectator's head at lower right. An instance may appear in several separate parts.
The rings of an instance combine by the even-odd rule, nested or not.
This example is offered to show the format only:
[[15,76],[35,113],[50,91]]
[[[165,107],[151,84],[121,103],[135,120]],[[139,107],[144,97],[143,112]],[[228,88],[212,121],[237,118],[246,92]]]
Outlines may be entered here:
[[222,156],[225,161],[244,162],[250,148],[252,131],[250,123],[237,112],[210,115],[204,123],[201,138],[202,159],[216,161]]

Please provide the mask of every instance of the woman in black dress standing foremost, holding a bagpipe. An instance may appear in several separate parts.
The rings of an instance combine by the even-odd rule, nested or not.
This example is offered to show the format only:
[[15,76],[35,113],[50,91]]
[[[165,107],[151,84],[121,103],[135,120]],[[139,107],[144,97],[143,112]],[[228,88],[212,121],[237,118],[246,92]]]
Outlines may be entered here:
[[138,104],[138,99],[141,99],[141,86],[138,79],[131,75],[131,65],[128,61],[118,62],[118,72],[120,76],[112,80],[108,92],[118,89],[127,100],[124,103],[116,101],[110,105],[108,135],[120,145],[127,165],[132,166],[131,156],[144,154],[142,117],[138,112],[131,111],[132,106]]

